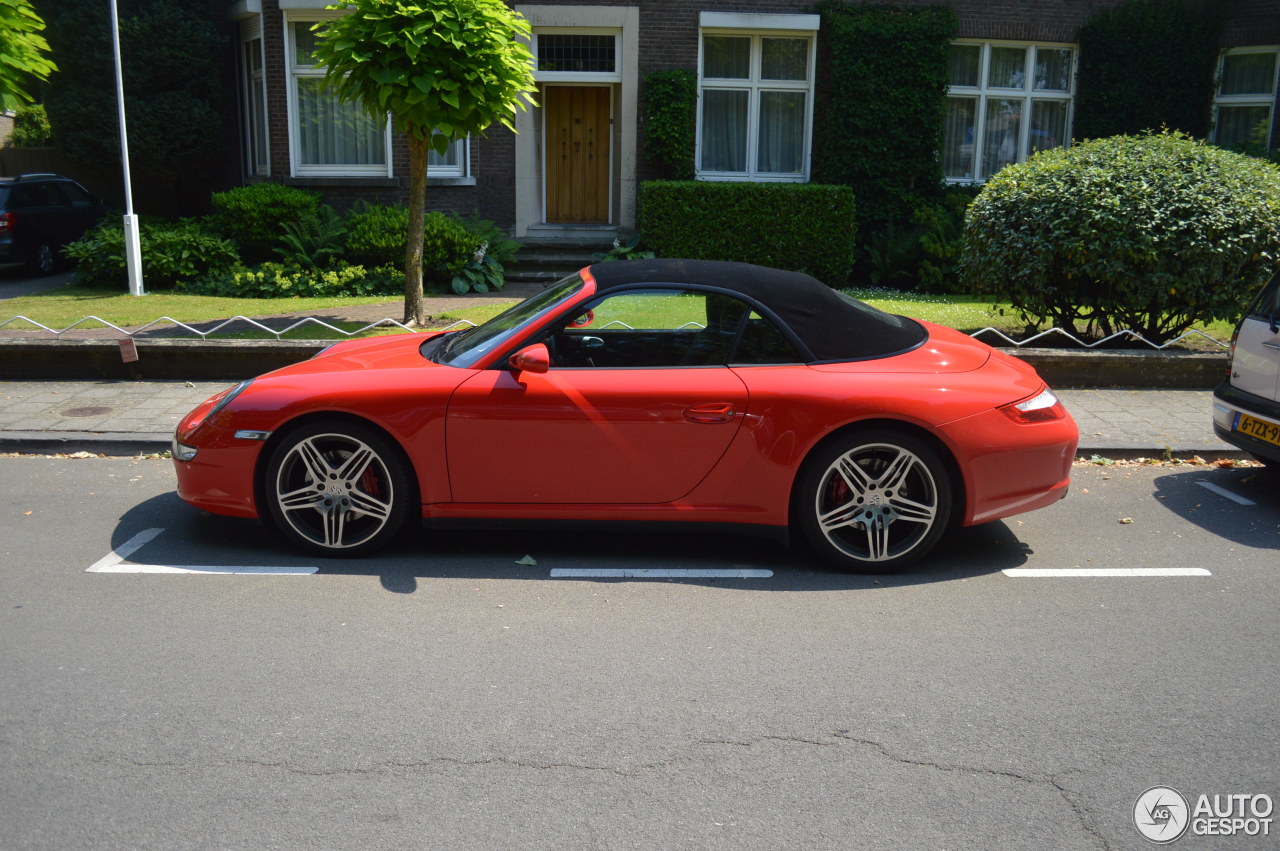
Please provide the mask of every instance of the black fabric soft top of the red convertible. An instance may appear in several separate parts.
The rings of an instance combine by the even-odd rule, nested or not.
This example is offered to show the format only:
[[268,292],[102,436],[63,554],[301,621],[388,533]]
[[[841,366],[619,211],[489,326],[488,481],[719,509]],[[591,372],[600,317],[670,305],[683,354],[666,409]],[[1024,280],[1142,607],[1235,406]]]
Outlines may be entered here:
[[815,278],[714,260],[623,260],[590,267],[596,292],[637,284],[699,284],[767,308],[815,361],[856,361],[910,351],[928,339],[919,322],[840,293]]

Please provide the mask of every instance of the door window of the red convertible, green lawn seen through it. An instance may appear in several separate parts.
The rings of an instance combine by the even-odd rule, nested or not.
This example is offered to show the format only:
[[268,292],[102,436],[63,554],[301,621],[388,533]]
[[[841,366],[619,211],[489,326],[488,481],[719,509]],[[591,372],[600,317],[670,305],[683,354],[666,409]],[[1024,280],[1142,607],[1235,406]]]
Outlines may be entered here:
[[627,290],[550,334],[552,369],[723,366],[749,312],[719,293]]

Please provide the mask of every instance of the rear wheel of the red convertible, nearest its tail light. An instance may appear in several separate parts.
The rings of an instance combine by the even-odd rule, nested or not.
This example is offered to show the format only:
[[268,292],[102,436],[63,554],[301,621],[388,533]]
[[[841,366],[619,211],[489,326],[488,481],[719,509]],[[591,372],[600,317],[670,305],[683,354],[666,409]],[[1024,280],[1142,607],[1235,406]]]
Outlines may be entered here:
[[805,540],[850,573],[893,573],[933,549],[951,480],[923,440],[888,429],[841,435],[800,473],[794,517]]

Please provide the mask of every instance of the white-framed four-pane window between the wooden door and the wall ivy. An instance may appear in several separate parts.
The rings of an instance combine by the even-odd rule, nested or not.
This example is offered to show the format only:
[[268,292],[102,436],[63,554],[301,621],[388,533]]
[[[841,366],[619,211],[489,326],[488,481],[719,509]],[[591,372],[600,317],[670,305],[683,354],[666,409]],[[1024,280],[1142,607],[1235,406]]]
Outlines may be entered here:
[[698,61],[698,177],[809,179],[814,33],[710,29]]

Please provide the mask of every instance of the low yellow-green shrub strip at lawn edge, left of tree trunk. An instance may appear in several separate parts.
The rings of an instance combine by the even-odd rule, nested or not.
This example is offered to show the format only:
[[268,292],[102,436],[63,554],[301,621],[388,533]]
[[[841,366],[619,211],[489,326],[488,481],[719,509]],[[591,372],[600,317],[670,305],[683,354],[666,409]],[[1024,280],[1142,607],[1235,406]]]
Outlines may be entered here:
[[184,282],[179,289],[201,296],[233,298],[319,298],[332,296],[396,296],[404,290],[397,269],[365,269],[339,264],[328,269],[300,269],[287,264],[236,264]]

